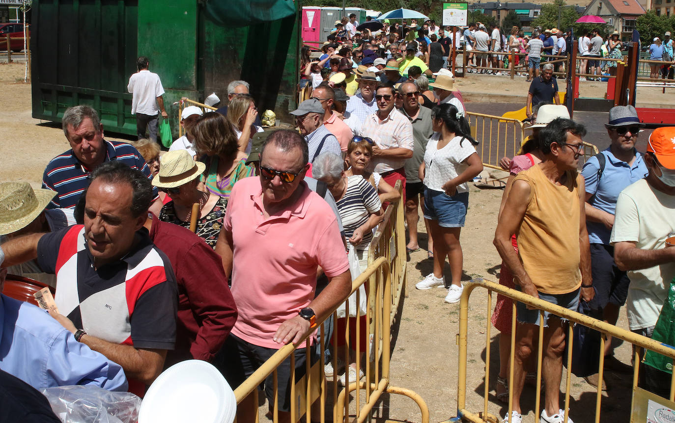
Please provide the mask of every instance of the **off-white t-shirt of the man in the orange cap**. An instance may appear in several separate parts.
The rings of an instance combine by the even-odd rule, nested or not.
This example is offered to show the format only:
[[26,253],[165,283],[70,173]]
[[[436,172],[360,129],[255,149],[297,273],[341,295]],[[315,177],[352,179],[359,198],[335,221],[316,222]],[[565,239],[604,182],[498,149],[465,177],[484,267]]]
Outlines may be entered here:
[[[630,184],[619,194],[610,237],[612,245],[628,241],[636,242],[635,246],[643,250],[657,250],[665,248],[672,231],[675,231],[675,196],[651,188],[645,179]],[[630,330],[656,324],[673,277],[675,263],[628,271],[626,312]]]

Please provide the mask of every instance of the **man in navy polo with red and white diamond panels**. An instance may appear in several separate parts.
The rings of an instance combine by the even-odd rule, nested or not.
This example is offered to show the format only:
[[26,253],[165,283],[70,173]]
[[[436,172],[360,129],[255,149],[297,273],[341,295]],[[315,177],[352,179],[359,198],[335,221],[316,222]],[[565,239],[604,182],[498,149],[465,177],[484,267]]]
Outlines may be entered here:
[[10,239],[3,266],[38,259],[55,273],[50,312],[75,339],[119,364],[143,395],[175,344],[178,289],[171,264],[141,229],[152,200],[147,177],[119,161],[97,167],[84,225]]

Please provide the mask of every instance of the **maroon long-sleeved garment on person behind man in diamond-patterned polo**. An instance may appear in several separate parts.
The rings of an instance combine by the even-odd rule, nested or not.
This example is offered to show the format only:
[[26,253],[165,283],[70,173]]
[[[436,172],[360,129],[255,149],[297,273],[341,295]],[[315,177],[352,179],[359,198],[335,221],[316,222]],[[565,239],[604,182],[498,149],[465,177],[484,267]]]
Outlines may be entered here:
[[210,362],[237,320],[223,262],[203,239],[155,215],[150,238],[169,258],[178,282],[175,349],[165,367],[192,358]]

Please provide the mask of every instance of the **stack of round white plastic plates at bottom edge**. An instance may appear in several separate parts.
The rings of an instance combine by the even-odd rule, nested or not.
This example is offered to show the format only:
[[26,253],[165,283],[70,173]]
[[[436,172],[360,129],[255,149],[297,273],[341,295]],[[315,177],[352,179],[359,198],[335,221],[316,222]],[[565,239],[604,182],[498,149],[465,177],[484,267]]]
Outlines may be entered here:
[[146,393],[139,423],[232,423],[237,401],[212,364],[188,360],[167,368]]

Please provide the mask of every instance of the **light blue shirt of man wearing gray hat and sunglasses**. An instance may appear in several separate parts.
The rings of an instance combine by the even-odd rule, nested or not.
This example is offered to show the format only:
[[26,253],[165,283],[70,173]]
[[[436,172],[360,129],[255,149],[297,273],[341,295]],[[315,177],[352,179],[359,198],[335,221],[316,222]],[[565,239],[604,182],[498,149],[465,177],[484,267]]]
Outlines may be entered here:
[[[597,171],[600,165],[596,157],[591,157],[586,161],[581,175],[585,179],[586,192],[595,194],[589,200],[589,204],[614,215],[619,193],[633,182],[647,177],[649,171],[643,160],[643,155],[637,150],[635,150],[635,160],[632,166],[614,157],[610,148],[603,150],[602,154],[605,155],[605,169],[600,177],[600,184],[597,181]],[[612,229],[607,229],[602,223],[591,221],[586,221],[586,227],[589,231],[589,242],[591,244],[610,245]]]

